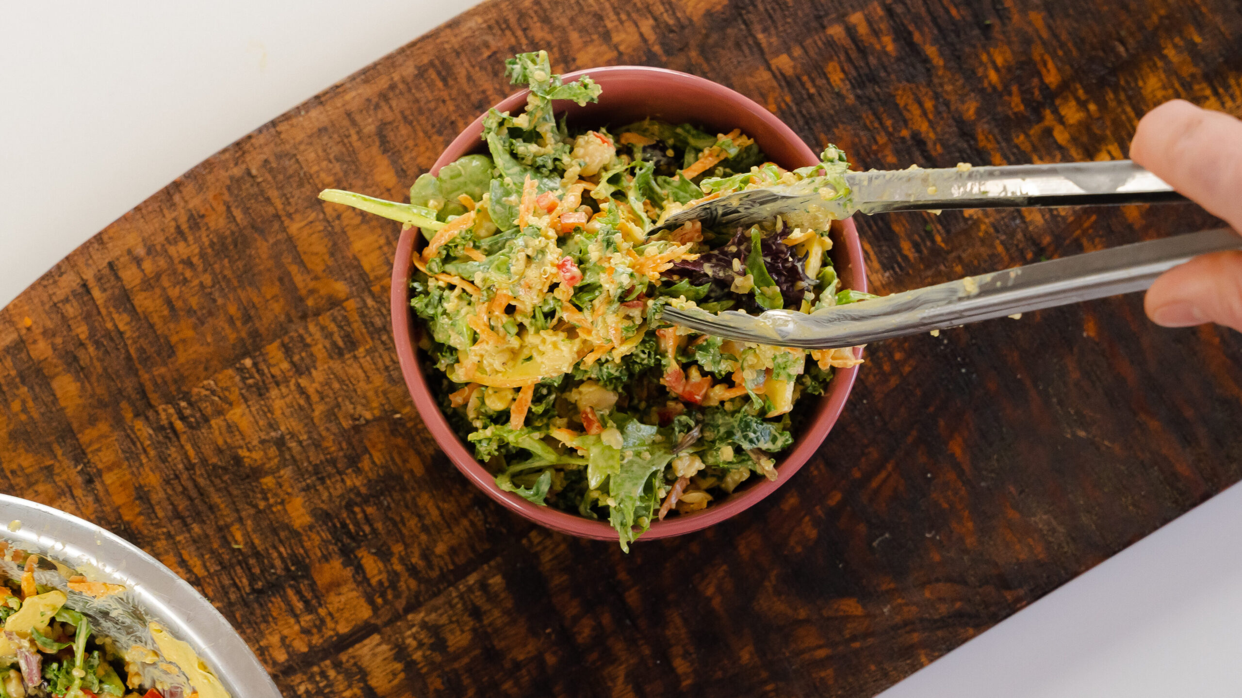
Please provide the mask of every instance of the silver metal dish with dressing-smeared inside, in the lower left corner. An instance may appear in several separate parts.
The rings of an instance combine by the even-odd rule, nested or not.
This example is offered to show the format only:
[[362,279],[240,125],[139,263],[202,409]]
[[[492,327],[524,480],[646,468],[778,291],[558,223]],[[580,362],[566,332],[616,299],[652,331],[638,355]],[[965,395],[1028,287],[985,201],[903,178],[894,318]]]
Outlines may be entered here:
[[[36,581],[66,591],[66,606],[83,612],[102,636],[122,648],[140,645],[158,651],[149,630],[156,622],[188,642],[232,698],[279,698],[267,671],[220,611],[185,580],[124,539],[58,509],[0,494],[0,540],[40,556]],[[6,554],[5,558],[11,558]],[[20,565],[0,559],[0,574],[20,579]],[[120,594],[102,601],[70,591],[68,579],[119,584]],[[186,677],[160,663],[143,664],[144,678],[194,692]]]

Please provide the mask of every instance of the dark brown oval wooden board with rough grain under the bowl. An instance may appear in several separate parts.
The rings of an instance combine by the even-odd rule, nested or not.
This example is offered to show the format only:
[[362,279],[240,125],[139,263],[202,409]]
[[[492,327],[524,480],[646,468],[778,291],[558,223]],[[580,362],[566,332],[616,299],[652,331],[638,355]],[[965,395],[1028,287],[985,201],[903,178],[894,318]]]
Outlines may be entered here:
[[[1165,99],[1242,111],[1232,0],[487,2],[0,313],[0,487],[150,550],[291,697],[854,697],[1242,478],[1242,340],[1126,297],[873,347],[818,457],[708,532],[626,556],[507,513],[401,381],[394,226],[315,193],[402,197],[539,47],[722,82],[863,168],[1120,158]],[[1189,205],[859,221],[882,292],[1210,225]]]

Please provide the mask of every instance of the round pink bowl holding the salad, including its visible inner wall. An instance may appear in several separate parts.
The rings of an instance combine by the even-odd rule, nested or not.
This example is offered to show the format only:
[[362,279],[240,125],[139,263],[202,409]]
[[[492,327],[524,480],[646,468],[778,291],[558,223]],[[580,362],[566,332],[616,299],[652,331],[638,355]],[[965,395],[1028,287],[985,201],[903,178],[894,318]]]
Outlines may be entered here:
[[[620,125],[655,117],[672,123],[696,123],[712,133],[727,133],[740,128],[743,133],[759,143],[770,160],[782,168],[801,168],[818,161],[815,153],[768,109],[712,81],[643,66],[589,68],[568,73],[564,78],[565,82],[569,82],[584,75],[590,75],[595,82],[600,83],[604,93],[600,96],[599,103],[585,107],[579,107],[573,102],[558,104],[558,114],[561,111],[568,112],[573,123]],[[496,108],[502,112],[513,112],[520,109],[525,102],[527,91],[522,91],[509,96]],[[486,153],[481,140],[482,132],[483,117],[479,116],[440,155],[440,159],[431,168],[432,174],[438,174],[440,168],[462,155]],[[854,229],[853,221],[832,224],[832,236],[836,242],[832,260],[842,282],[847,288],[866,291],[867,272],[862,260],[862,246],[858,243],[858,231]],[[414,404],[419,407],[427,428],[431,430],[440,447],[445,450],[457,468],[487,492],[492,499],[535,523],[561,533],[616,540],[617,534],[607,522],[585,519],[551,507],[538,507],[497,487],[492,474],[474,460],[473,451],[448,426],[448,421],[441,414],[440,405],[424,375],[424,366],[419,359],[417,325],[411,322],[414,315],[410,310],[410,271],[412,267],[410,258],[415,248],[421,246],[422,240],[417,229],[404,231],[400,242],[397,242],[396,263],[392,266],[392,335],[396,342],[397,356],[401,360],[401,373],[405,375],[410,395],[414,396]],[[795,442],[794,448],[777,466],[780,474],[775,481],[751,478],[729,498],[702,512],[687,515],[677,514],[653,523],[651,529],[642,534],[638,540],[667,538],[707,528],[754,505],[775,492],[777,487],[785,484],[815,453],[828,430],[837,421],[837,416],[846,404],[846,397],[850,396],[850,389],[857,371],[857,368],[837,369],[828,391],[817,402],[807,402],[804,399],[804,409],[814,405],[815,414],[804,426],[804,432]]]

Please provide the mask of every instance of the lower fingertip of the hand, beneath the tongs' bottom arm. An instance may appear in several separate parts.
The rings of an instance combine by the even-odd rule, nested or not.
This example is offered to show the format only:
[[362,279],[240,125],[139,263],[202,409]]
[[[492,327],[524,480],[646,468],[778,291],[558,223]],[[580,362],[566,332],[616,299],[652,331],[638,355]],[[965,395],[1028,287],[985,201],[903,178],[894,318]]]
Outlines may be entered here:
[[1144,306],[1156,324],[1220,323],[1242,332],[1242,251],[1213,252],[1165,272]]

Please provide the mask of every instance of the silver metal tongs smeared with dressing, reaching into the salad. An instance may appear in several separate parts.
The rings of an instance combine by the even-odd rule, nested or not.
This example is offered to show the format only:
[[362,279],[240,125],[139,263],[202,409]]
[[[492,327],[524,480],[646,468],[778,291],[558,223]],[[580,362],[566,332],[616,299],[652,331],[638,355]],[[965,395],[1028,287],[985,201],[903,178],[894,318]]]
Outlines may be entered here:
[[[852,196],[825,200],[792,188],[741,191],[669,216],[658,229],[689,221],[744,226],[818,207],[837,219],[853,212],[936,209],[1076,206],[1182,200],[1129,160],[1056,165],[847,173]],[[971,276],[811,314],[663,308],[663,319],[727,339],[835,349],[1143,291],[1191,257],[1242,248],[1231,230],[1208,230]]]

